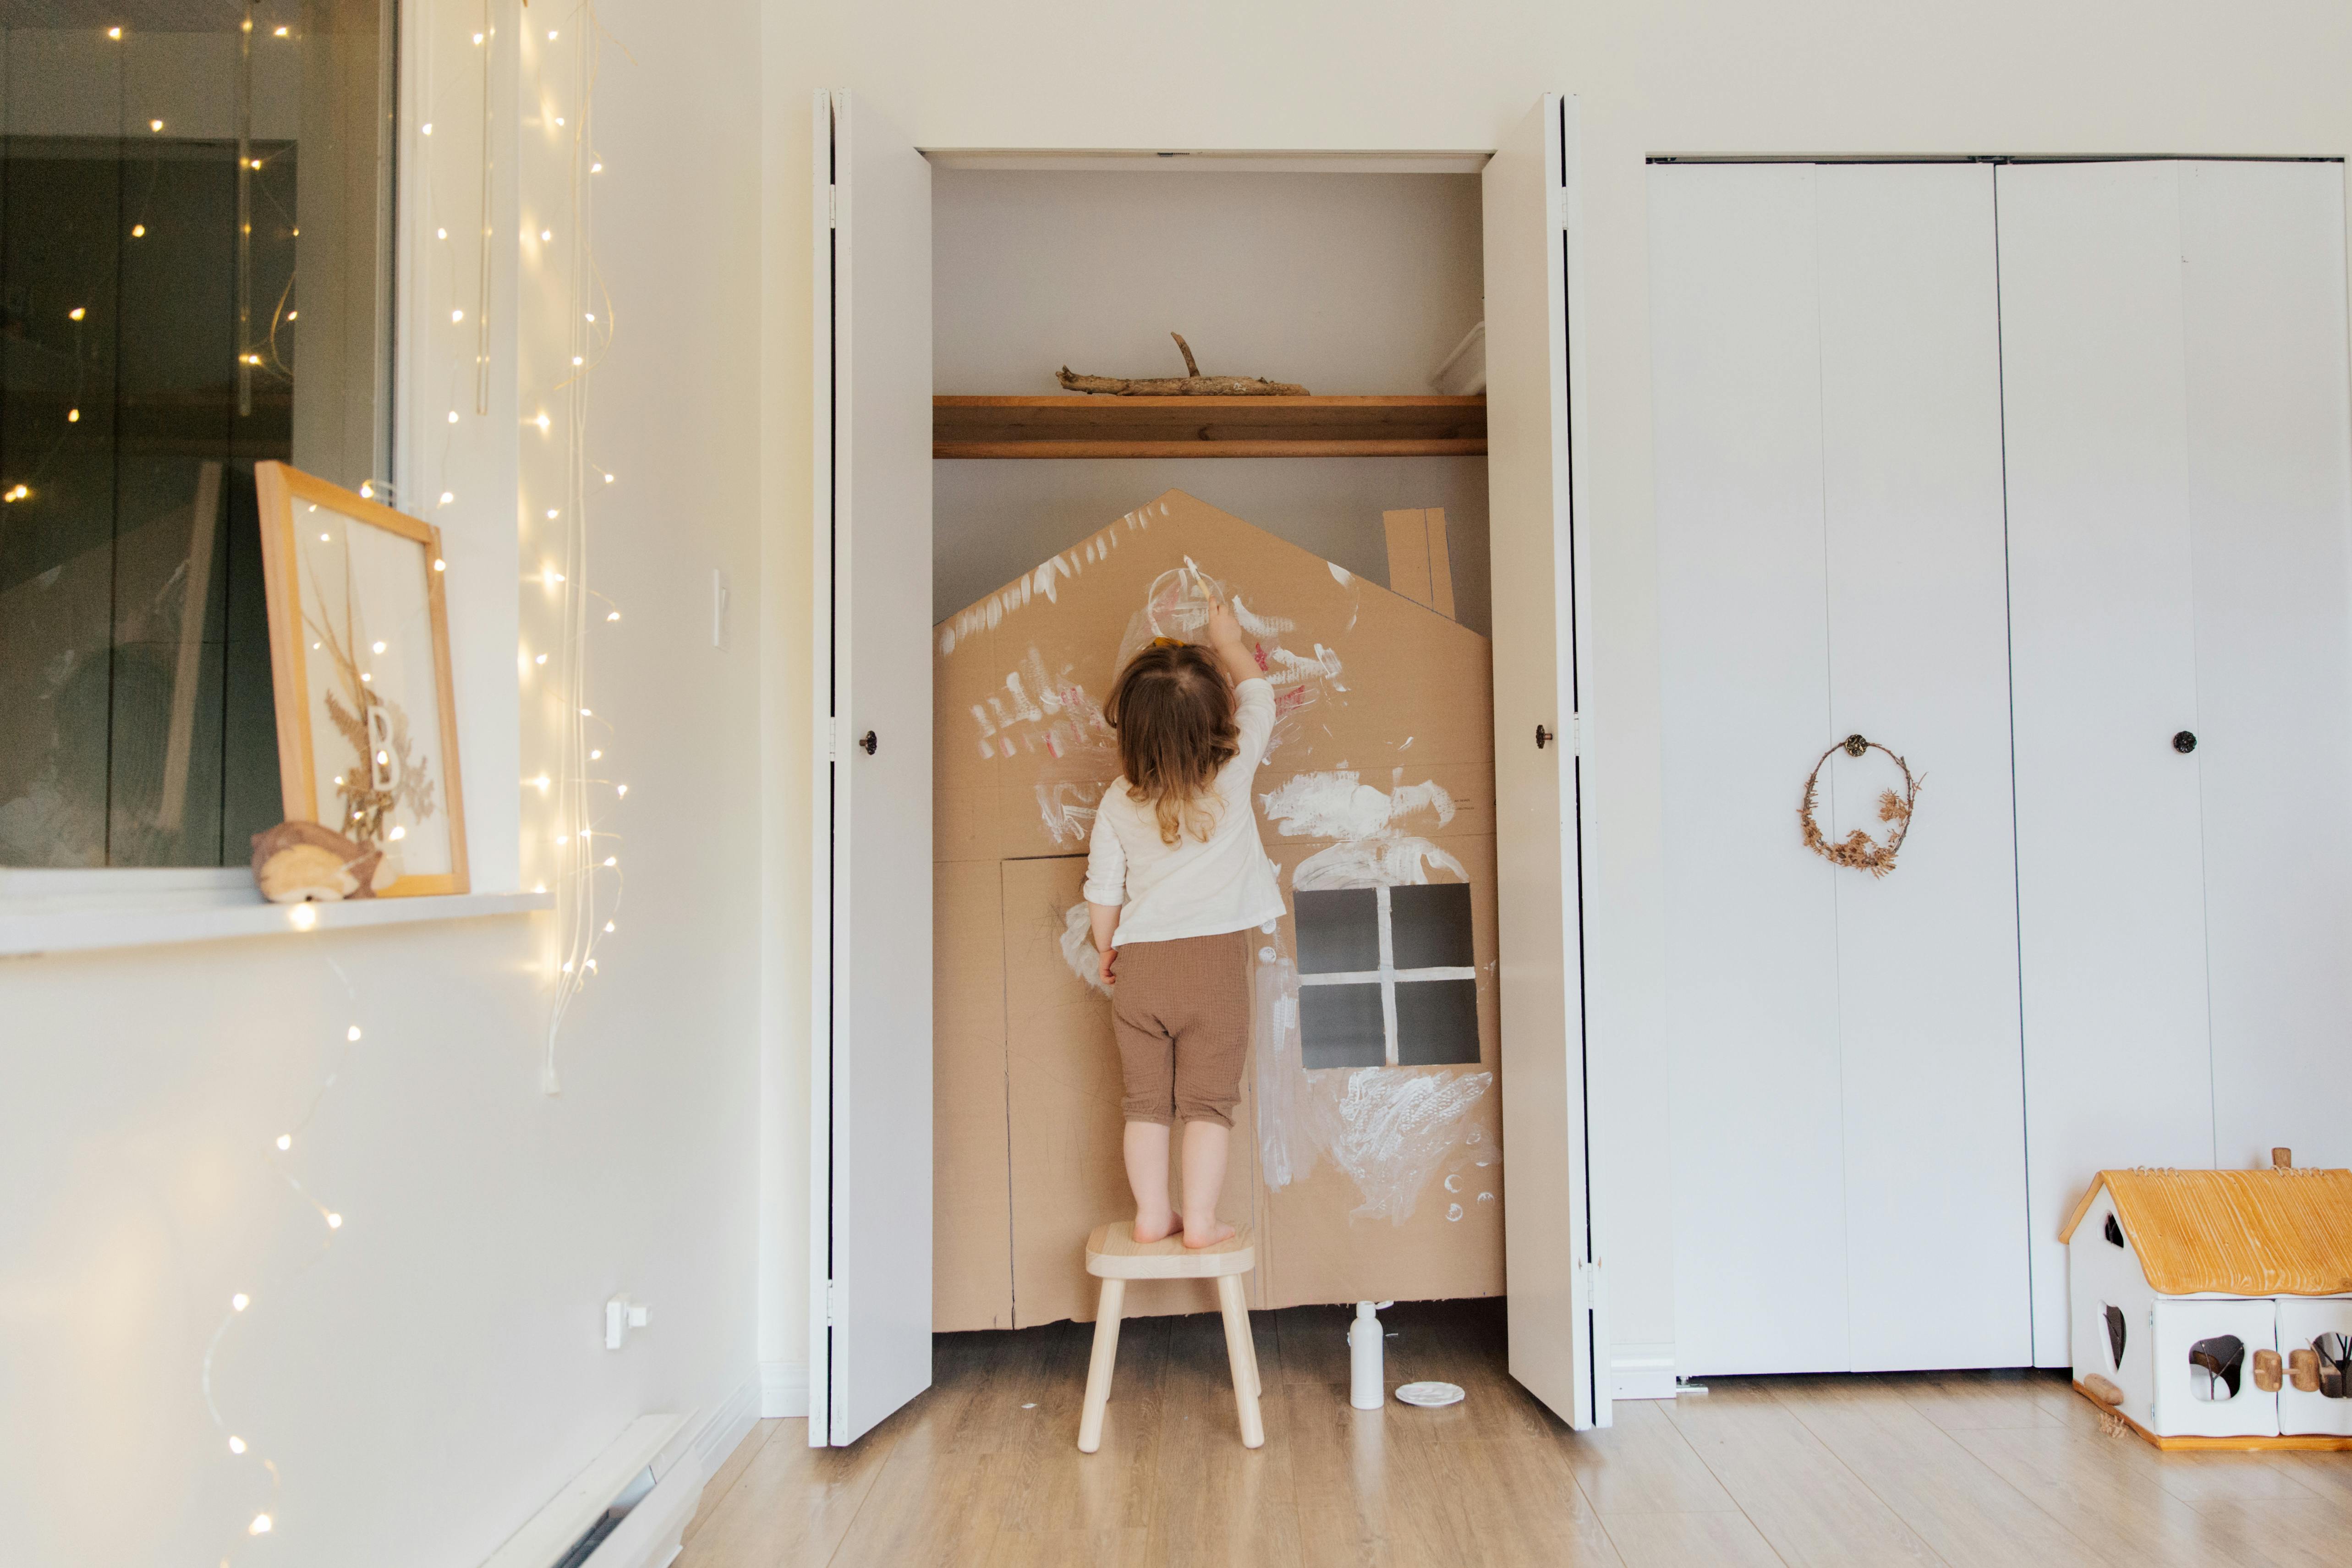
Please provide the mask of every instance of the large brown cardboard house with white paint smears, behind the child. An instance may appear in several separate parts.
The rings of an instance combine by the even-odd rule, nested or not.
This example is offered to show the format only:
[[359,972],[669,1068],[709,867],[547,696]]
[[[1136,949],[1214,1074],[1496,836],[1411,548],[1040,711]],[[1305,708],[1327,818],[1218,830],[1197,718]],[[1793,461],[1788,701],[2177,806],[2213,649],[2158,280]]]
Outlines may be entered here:
[[[1277,698],[1251,804],[1287,912],[1254,933],[1221,1204],[1256,1229],[1249,1305],[1501,1295],[1491,658],[1442,515],[1385,524],[1406,592],[1169,491],[936,628],[934,1328],[1089,1321],[1087,1232],[1134,1213],[1082,879],[1103,693],[1202,635],[1185,557]],[[1209,1281],[1127,1295],[1214,1309]]]

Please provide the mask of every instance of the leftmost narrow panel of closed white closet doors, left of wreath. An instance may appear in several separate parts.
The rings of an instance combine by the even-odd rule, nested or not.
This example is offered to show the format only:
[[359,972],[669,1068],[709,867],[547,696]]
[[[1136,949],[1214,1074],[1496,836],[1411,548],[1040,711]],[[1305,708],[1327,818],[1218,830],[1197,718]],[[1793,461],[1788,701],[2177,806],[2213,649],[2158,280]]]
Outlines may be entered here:
[[1675,1359],[1846,1366],[1813,169],[1649,174]]

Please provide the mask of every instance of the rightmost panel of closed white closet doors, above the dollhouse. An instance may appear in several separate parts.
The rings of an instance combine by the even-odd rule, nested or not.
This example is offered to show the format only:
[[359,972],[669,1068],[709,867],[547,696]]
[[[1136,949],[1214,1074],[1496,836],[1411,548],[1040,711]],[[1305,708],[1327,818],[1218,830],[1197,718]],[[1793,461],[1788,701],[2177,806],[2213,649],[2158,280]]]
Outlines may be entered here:
[[2352,1161],[2343,165],[2180,165],[2197,766],[2223,1166]]

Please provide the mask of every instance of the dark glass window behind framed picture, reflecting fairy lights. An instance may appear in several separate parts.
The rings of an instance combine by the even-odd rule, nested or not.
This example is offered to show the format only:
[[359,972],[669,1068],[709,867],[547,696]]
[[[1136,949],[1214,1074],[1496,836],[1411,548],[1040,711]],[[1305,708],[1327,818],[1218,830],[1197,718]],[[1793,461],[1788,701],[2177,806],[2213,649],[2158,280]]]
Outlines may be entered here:
[[282,811],[254,463],[390,463],[388,0],[0,28],[0,865]]

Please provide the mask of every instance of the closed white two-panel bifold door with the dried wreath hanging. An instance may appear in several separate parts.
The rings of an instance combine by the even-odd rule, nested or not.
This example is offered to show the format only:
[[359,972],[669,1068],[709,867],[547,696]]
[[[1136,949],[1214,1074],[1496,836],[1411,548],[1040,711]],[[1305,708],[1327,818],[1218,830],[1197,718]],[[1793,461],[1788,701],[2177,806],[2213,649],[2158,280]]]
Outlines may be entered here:
[[[1649,174],[1684,1373],[2030,1359],[1992,200]],[[1889,877],[1799,839],[1856,733]],[[1889,788],[1832,755],[1823,832]]]

